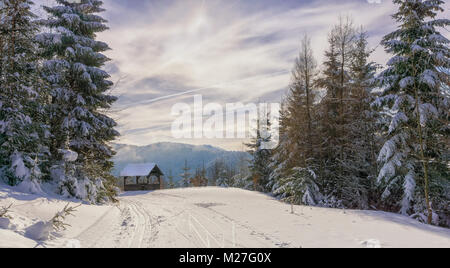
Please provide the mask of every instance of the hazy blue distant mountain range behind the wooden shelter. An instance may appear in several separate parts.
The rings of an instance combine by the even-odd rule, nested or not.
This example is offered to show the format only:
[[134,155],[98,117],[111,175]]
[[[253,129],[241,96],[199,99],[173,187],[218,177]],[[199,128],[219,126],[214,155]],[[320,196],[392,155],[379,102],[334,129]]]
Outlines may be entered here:
[[189,145],[182,143],[155,143],[148,146],[125,144],[113,145],[117,155],[113,158],[115,167],[113,174],[118,176],[127,164],[156,163],[166,177],[172,172],[174,180],[181,179],[185,160],[194,173],[196,168],[209,168],[216,160],[237,165],[242,159],[250,159],[246,152],[226,151],[210,145]]

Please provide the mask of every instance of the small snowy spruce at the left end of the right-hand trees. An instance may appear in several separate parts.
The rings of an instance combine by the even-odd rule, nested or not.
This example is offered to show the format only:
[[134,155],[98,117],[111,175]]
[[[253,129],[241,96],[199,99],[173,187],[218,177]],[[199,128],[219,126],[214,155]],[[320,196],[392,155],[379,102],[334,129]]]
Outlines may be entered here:
[[272,159],[270,113],[259,111],[256,125],[255,136],[246,144],[252,157],[249,165],[250,180],[253,181],[253,190],[270,192],[271,189],[268,187]]

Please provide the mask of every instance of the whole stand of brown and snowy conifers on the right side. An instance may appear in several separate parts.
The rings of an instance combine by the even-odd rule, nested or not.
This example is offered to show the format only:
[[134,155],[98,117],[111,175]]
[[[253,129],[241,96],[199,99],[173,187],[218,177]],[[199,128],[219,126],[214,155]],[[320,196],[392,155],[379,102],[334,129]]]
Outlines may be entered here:
[[442,1],[394,3],[397,30],[381,42],[387,63],[370,62],[368,34],[349,17],[330,31],[322,63],[304,36],[280,144],[261,149],[258,136],[250,145],[252,188],[294,204],[450,226],[450,52],[441,34],[450,20],[437,19]]

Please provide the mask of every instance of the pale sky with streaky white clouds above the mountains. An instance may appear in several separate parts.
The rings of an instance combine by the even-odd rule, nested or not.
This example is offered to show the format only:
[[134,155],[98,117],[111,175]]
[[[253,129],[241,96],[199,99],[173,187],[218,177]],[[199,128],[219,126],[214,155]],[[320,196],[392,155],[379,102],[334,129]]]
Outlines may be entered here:
[[[351,16],[369,34],[372,60],[384,64],[388,55],[379,43],[396,28],[390,0],[104,2],[110,30],[98,38],[112,48],[106,69],[119,97],[111,116],[122,134],[117,142],[132,145],[182,142],[244,150],[245,139],[175,139],[172,107],[192,105],[194,95],[202,95],[205,105],[280,102],[305,33],[320,63],[331,28],[339,16]],[[448,17],[450,4],[444,8]]]

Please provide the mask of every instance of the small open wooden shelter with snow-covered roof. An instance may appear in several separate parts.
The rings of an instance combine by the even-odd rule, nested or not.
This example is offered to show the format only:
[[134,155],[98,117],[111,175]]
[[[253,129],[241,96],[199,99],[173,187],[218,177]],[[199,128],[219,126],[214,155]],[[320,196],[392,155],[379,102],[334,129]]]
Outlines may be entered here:
[[163,176],[155,163],[130,164],[120,173],[125,192],[163,189]]

